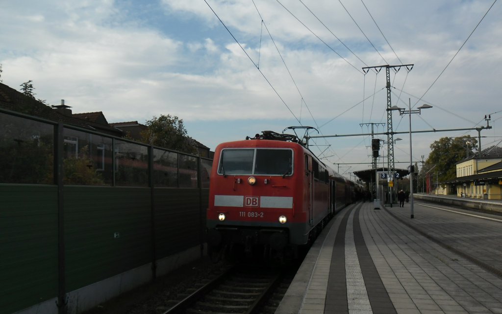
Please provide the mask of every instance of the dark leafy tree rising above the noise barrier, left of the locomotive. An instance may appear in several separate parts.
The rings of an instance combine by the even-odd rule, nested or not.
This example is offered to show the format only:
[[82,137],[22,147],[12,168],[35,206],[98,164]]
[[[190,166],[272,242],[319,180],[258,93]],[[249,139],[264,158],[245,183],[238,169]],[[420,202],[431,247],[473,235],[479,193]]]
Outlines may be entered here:
[[197,155],[195,141],[187,135],[182,119],[171,115],[154,116],[146,125],[148,129],[141,132],[144,143]]

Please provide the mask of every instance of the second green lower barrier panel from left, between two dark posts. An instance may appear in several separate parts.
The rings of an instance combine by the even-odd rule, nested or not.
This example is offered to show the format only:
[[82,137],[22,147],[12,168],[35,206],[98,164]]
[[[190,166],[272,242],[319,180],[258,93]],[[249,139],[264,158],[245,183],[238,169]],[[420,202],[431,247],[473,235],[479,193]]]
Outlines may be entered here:
[[148,188],[65,187],[66,289],[150,262]]

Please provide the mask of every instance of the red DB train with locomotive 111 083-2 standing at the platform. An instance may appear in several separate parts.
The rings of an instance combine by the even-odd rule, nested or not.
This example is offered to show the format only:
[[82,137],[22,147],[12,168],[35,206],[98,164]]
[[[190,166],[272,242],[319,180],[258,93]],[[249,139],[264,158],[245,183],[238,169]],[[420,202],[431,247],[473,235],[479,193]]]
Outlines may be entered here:
[[215,149],[207,210],[210,254],[297,257],[337,211],[354,182],[295,136],[263,131]]

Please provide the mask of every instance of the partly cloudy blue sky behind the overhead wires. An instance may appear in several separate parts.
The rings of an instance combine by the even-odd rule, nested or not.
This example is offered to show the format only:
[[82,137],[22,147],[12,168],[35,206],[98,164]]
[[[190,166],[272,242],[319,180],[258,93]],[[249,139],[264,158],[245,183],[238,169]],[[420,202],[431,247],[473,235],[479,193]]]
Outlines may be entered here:
[[[363,68],[390,65],[392,106],[433,106],[411,115],[413,131],[436,130],[412,134],[416,162],[441,137],[477,137],[438,130],[484,115],[482,148],[502,145],[501,17],[496,0],[4,0],[0,80],[109,123],[174,115],[214,150],[289,126],[387,132],[386,68]],[[396,168],[410,162],[409,119],[392,114]],[[370,136],[309,144],[346,177],[370,168]]]

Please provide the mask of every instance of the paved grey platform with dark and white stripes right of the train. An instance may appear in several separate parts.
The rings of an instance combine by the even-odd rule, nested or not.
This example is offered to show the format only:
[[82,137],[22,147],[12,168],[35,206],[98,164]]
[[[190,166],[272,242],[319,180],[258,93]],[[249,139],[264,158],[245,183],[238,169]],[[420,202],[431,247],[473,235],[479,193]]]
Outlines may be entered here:
[[414,202],[339,212],[282,299],[291,313],[502,313],[502,216]]

